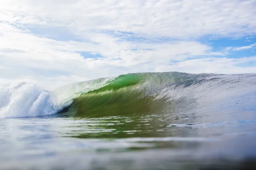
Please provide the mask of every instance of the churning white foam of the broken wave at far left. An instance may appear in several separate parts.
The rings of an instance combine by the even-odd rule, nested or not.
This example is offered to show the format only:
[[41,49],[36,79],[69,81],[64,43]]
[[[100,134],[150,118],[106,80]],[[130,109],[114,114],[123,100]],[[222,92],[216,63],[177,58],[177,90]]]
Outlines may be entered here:
[[0,118],[44,116],[58,112],[50,92],[32,82],[0,85]]

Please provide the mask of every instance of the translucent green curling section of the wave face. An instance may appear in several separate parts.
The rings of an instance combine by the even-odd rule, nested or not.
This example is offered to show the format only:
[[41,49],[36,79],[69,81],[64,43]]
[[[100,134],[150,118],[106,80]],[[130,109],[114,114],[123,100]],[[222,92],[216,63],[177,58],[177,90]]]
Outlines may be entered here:
[[171,105],[166,98],[156,99],[160,90],[189,75],[179,72],[120,75],[76,97],[65,111],[79,117],[161,112]]

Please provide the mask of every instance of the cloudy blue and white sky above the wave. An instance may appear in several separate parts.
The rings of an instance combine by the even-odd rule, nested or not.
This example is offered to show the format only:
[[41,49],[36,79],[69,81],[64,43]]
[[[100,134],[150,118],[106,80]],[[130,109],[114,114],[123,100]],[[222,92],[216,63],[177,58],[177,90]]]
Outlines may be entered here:
[[256,73],[256,0],[0,0],[0,82]]

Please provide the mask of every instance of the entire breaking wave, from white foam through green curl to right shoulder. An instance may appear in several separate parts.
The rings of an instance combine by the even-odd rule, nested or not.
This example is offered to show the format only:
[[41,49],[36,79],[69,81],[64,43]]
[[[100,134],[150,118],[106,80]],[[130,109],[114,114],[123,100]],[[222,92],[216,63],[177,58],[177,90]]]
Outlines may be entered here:
[[33,83],[16,83],[0,88],[0,117],[213,111],[245,101],[255,105],[255,93],[256,74],[125,74],[78,82],[52,92]]

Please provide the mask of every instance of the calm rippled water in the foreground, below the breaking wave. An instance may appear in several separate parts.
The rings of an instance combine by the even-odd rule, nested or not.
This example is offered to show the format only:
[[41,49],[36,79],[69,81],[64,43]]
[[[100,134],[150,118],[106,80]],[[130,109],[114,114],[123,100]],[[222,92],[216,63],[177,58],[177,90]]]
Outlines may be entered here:
[[256,156],[255,120],[255,110],[1,119],[0,167],[197,169],[218,166],[221,158],[238,163]]

